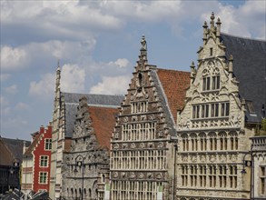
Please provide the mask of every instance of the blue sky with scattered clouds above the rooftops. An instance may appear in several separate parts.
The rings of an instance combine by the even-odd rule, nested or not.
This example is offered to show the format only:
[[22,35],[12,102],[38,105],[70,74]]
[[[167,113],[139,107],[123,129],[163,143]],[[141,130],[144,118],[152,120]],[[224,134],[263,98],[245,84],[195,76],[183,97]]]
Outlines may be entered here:
[[1,0],[0,135],[30,139],[52,120],[58,59],[74,93],[124,95],[142,35],[150,64],[189,71],[212,11],[222,32],[265,40],[264,0]]

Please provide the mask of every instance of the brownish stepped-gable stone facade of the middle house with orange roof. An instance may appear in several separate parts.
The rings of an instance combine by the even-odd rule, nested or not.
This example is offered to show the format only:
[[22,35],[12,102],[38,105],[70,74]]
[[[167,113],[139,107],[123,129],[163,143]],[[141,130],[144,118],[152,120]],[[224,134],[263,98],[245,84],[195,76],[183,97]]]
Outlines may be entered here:
[[141,55],[111,140],[113,200],[172,199],[175,192],[176,132],[159,71],[147,63],[143,37]]

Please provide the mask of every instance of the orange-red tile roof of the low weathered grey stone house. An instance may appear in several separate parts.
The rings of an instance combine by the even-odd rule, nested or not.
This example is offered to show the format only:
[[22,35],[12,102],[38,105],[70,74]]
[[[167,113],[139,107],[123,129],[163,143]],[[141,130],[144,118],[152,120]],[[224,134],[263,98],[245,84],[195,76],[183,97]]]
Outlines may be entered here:
[[94,133],[100,145],[110,150],[110,141],[118,108],[89,106],[89,113],[93,121]]

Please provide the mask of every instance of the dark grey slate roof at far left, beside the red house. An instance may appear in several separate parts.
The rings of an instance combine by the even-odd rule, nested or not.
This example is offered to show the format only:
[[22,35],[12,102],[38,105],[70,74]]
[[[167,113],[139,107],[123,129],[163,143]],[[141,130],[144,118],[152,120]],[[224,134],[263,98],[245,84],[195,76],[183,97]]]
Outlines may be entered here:
[[[11,138],[5,138],[5,137],[0,137],[0,139],[3,141],[7,149],[11,152],[13,158],[12,159],[19,159],[20,162],[22,162],[23,158],[23,146],[24,146],[24,141],[21,139],[11,139]],[[25,145],[29,146],[31,144],[30,141],[25,141]],[[9,159],[9,158],[8,158]],[[13,165],[13,164],[10,164]]]

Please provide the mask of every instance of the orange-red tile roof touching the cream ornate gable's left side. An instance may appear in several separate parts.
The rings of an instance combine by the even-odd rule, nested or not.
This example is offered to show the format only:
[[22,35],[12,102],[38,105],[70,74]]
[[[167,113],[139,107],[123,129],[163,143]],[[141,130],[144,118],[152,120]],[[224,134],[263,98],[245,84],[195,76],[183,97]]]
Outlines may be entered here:
[[177,110],[184,106],[186,90],[190,86],[190,73],[169,69],[158,69],[157,75],[163,85],[164,94],[167,97],[174,122],[176,122]]

